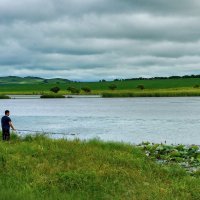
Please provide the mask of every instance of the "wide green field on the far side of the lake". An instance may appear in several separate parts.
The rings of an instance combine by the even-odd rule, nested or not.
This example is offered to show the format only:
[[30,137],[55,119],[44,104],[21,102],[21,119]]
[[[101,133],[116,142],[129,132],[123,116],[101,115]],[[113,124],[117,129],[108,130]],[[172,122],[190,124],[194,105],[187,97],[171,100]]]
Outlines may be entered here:
[[[21,80],[21,79],[20,79]],[[187,79],[156,79],[156,80],[131,80],[131,81],[107,81],[107,82],[70,82],[63,79],[43,80],[26,78],[22,79],[8,79],[7,81],[0,81],[0,94],[49,94],[52,87],[58,86],[61,90],[59,94],[70,94],[67,91],[68,87],[75,87],[81,89],[87,87],[91,89],[90,93],[80,91],[80,94],[102,94],[102,93],[146,93],[162,94],[168,93],[165,96],[174,96],[177,93],[190,93],[192,96],[200,95],[200,78]],[[109,89],[110,85],[116,85],[116,89],[112,91]],[[137,89],[138,85],[143,85],[144,90]],[[196,88],[194,88],[194,86]],[[175,92],[174,92],[175,91]],[[173,94],[171,94],[171,93]],[[188,96],[191,96],[188,95]],[[123,95],[122,95],[123,96]],[[134,95],[133,95],[134,96]],[[137,95],[136,95],[137,96]],[[145,96],[145,95],[141,95]],[[178,96],[178,95],[177,95]],[[187,96],[187,95],[185,95]]]

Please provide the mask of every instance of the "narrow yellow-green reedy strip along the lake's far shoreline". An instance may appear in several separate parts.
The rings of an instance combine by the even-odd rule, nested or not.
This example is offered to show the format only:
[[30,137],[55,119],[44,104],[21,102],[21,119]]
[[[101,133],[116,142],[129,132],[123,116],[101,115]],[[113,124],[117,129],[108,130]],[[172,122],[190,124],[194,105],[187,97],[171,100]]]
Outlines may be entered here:
[[62,95],[65,98],[131,98],[131,97],[199,97],[200,88],[168,88],[168,89],[125,89],[125,90],[93,90],[91,93],[70,94],[61,90],[59,93],[48,91],[1,92],[1,96],[10,98],[40,98],[41,96]]

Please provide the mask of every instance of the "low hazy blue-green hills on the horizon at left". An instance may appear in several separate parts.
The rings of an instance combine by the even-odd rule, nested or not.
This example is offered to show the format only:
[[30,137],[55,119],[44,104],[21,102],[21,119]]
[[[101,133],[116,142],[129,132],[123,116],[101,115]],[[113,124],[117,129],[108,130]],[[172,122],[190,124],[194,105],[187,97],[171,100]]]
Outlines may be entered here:
[[35,83],[69,83],[71,82],[68,79],[62,78],[52,78],[52,79],[44,79],[40,77],[19,77],[19,76],[6,76],[0,77],[0,84],[35,84]]

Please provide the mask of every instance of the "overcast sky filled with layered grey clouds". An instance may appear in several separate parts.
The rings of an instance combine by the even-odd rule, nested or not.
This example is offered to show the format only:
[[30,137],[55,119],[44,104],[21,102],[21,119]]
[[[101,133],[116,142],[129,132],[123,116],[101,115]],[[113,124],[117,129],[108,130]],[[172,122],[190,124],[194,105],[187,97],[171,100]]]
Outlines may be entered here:
[[0,76],[200,74],[199,0],[0,0]]

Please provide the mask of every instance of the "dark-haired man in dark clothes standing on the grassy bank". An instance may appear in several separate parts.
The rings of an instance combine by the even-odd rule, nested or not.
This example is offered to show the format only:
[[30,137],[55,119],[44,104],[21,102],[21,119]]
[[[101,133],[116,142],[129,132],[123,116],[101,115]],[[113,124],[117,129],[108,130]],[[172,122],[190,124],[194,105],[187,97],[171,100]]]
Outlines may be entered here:
[[12,130],[15,130],[9,115],[10,115],[10,111],[6,110],[5,116],[1,118],[3,140],[7,140],[7,141],[10,140],[10,127],[12,128]]

